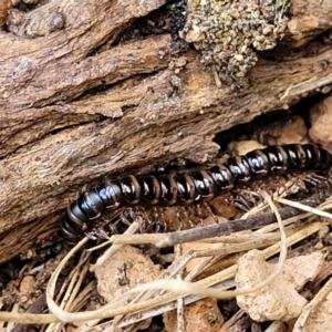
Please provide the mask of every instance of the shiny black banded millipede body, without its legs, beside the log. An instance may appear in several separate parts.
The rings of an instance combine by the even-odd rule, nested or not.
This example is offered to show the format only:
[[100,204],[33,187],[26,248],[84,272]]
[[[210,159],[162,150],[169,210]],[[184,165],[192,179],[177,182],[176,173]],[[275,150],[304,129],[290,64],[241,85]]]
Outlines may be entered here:
[[324,170],[331,165],[332,156],[326,151],[312,144],[291,144],[256,149],[230,158],[226,164],[201,165],[199,169],[106,179],[70,205],[62,231],[68,240],[74,240],[107,209],[199,204],[261,176],[303,169]]

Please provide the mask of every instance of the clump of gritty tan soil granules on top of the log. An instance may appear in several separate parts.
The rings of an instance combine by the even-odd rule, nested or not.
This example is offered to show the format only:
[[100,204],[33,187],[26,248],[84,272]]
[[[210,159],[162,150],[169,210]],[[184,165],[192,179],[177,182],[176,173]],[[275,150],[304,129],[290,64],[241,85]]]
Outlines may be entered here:
[[201,50],[201,62],[234,87],[247,84],[256,51],[283,38],[290,0],[191,0],[181,38]]

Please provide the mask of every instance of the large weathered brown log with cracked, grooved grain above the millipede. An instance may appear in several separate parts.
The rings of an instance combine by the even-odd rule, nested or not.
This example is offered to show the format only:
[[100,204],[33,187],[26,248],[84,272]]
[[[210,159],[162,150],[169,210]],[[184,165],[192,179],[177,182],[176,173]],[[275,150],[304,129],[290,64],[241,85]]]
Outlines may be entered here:
[[293,49],[330,28],[329,1],[292,2],[288,55],[259,60],[240,91],[218,87],[199,51],[175,54],[167,30],[118,42],[166,2],[0,8],[0,262],[56,231],[58,211],[83,185],[178,157],[204,163],[219,148],[216,133],[332,82],[329,42]]

